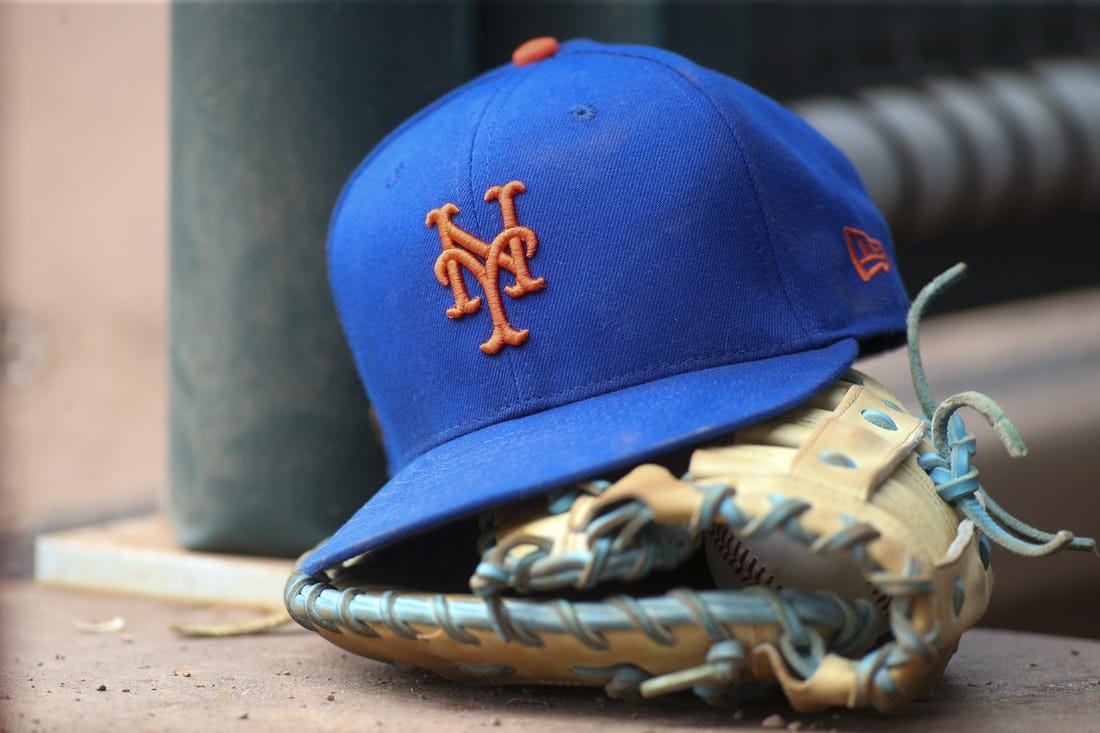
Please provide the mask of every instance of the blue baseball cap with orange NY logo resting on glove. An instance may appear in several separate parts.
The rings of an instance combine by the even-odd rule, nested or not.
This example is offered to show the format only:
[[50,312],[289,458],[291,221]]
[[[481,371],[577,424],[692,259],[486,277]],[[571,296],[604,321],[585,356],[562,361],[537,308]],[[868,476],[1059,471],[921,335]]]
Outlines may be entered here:
[[391,133],[328,258],[391,478],[306,572],[772,417],[909,309],[833,144],[682,56],[586,40],[529,42]]

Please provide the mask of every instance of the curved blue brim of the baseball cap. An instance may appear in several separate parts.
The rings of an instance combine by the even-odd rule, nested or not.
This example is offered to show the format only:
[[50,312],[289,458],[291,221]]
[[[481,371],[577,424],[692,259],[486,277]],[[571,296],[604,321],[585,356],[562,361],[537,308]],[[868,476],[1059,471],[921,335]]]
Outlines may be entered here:
[[854,339],[715,366],[497,423],[440,445],[393,477],[302,562],[315,573],[504,503],[767,419],[851,366]]

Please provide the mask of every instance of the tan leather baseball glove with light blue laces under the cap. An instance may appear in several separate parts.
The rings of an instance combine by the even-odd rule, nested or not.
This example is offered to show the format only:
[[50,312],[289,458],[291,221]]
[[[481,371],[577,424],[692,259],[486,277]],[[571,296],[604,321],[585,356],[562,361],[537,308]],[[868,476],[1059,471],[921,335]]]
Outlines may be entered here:
[[994,403],[964,393],[937,405],[927,391],[917,324],[961,272],[934,281],[910,316],[924,417],[851,371],[690,451],[686,472],[667,457],[455,523],[415,550],[297,572],[290,615],[355,654],[465,682],[692,690],[712,704],[781,692],[803,712],[897,712],[930,696],[987,609],[990,540],[1094,551],[1028,527],[982,489],[956,413],[976,409],[1022,453]]

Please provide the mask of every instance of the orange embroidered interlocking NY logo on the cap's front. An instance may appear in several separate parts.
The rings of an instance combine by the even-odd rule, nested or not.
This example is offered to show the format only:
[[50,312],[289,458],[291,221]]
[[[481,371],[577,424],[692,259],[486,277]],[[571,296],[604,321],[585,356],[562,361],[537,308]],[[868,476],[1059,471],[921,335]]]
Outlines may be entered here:
[[535,256],[539,242],[530,228],[520,227],[516,220],[516,194],[525,190],[527,187],[522,183],[513,180],[485,192],[485,200],[498,201],[504,217],[504,229],[492,242],[474,237],[451,220],[459,212],[454,204],[432,209],[425,222],[436,227],[443,245],[443,251],[436,259],[436,280],[444,287],[450,286],[454,293],[454,306],[447,309],[447,315],[458,319],[476,313],[481,307],[481,296],[471,298],[466,291],[462,267],[482,286],[493,318],[493,335],[481,344],[481,350],[488,354],[499,352],[505,343],[521,344],[530,332],[528,329],[519,330],[508,321],[501,297],[501,270],[507,270],[516,277],[515,283],[504,288],[514,298],[541,291],[547,285],[546,277],[532,278],[527,267],[527,259]]

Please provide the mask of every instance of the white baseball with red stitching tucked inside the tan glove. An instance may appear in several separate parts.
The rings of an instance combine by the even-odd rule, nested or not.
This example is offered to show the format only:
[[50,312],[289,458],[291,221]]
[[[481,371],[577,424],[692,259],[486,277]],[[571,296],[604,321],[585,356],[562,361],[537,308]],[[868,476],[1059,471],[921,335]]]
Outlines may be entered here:
[[890,597],[868,582],[847,554],[814,555],[782,530],[757,537],[750,545],[725,525],[711,528],[703,544],[718,588],[829,590],[871,601],[883,613],[890,611]]

